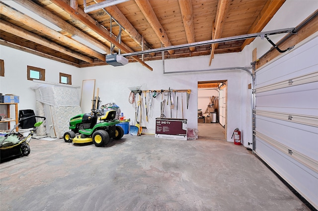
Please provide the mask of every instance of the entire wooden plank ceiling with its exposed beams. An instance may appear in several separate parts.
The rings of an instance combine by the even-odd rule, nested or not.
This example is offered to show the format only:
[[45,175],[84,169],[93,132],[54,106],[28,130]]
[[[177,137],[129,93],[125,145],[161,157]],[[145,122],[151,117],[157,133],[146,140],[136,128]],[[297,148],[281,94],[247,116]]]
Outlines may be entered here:
[[[129,0],[84,12],[84,0],[18,0],[49,20],[55,31],[0,1],[0,44],[77,67],[105,65],[105,54],[260,32],[285,0]],[[94,5],[103,0],[86,0]],[[107,1],[107,0],[106,0]],[[119,32],[122,29],[120,39]],[[106,53],[73,39],[77,35]],[[240,52],[253,39],[169,50],[165,59]],[[129,56],[130,62],[162,59],[161,52]]]

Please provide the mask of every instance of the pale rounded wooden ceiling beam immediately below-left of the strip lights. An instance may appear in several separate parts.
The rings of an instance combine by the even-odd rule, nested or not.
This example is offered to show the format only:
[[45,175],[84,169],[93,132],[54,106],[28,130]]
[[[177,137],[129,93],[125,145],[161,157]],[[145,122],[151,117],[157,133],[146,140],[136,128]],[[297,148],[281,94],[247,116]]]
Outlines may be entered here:
[[[42,24],[42,23],[40,23],[40,22],[38,22],[38,21],[36,21],[36,20],[2,4],[2,3],[0,3],[0,13],[4,14],[7,17],[12,18],[15,21],[23,23],[26,26],[29,26],[29,27],[31,27],[31,28],[43,33],[43,34],[46,34],[49,37],[52,37],[54,39],[57,39],[65,44],[69,45],[69,46],[77,48],[82,52],[88,53],[96,58],[101,59],[101,60],[104,60],[104,61],[106,60],[105,55],[98,53],[98,52],[76,42],[75,40],[72,40],[71,38],[68,38],[68,37],[62,35],[61,33],[51,29],[50,27],[45,26],[44,24]],[[86,59],[84,61],[90,62],[91,60],[92,59]]]

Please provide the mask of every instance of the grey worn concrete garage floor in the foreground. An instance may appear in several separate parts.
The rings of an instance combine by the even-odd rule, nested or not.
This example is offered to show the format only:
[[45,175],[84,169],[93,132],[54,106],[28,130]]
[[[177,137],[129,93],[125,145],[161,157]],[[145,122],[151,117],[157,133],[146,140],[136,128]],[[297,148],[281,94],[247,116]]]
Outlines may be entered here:
[[30,142],[0,164],[1,211],[307,211],[251,151],[124,135],[106,147]]

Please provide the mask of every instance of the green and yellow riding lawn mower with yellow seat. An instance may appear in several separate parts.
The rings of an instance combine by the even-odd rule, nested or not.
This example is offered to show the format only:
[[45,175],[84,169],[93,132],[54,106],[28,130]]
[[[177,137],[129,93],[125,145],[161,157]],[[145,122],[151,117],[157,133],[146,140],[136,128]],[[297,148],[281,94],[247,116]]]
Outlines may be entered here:
[[[124,130],[116,126],[120,121],[115,119],[116,110],[108,110],[103,116],[98,117],[103,111],[98,109],[99,98],[93,100],[90,113],[76,115],[70,120],[70,130],[64,134],[64,141],[75,144],[93,143],[96,147],[103,147],[109,143],[110,138],[121,139]],[[97,123],[97,120],[99,122]]]

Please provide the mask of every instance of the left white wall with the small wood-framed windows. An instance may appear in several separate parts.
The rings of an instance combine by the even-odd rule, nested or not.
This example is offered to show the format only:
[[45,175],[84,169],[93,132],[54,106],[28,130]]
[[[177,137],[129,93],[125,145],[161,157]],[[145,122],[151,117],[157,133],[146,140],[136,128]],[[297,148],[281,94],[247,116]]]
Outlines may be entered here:
[[[72,85],[81,86],[82,69],[61,62],[25,53],[6,46],[0,46],[0,58],[4,60],[4,77],[0,77],[0,93],[19,96],[19,110],[35,107],[35,92],[33,86],[39,85],[27,80],[27,65],[45,69],[45,81],[59,83],[60,72],[72,75]],[[79,89],[80,97],[80,89]],[[10,106],[11,116],[14,106]],[[11,122],[11,126],[14,122]]]

